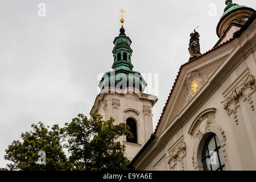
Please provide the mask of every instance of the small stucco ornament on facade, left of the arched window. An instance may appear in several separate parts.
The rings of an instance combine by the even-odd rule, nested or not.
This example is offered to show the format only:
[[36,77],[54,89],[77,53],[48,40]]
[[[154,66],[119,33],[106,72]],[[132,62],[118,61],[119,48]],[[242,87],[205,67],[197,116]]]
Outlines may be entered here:
[[184,141],[180,142],[177,147],[170,152],[170,156],[167,157],[167,163],[170,169],[174,169],[177,162],[181,163],[181,167],[184,170],[183,158],[186,156],[186,144]]

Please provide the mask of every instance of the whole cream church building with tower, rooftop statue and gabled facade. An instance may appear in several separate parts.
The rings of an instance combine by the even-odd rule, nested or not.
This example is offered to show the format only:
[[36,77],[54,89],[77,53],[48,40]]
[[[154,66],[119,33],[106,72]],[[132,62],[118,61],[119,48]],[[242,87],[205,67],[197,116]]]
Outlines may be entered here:
[[[121,11],[123,13],[123,11]],[[220,38],[200,53],[191,34],[189,61],[181,65],[156,130],[141,73],[133,71],[131,40],[122,27],[114,39],[113,71],[105,73],[90,114],[127,123],[125,155],[135,170],[256,170],[255,11],[226,1]]]

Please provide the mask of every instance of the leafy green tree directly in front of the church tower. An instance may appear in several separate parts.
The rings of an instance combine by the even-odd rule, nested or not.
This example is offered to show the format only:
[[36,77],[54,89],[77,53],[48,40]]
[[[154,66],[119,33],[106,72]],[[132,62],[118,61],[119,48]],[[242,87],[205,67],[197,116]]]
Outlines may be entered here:
[[132,137],[125,123],[113,125],[114,119],[102,121],[100,115],[90,119],[82,114],[66,123],[65,138],[76,170],[126,170],[129,160],[123,155],[125,146],[117,142],[122,135]]

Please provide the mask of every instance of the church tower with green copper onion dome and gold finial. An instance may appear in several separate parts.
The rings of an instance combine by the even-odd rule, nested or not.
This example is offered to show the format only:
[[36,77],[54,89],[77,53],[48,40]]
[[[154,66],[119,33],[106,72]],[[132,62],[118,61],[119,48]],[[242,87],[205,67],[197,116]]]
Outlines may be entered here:
[[121,13],[122,27],[113,42],[113,71],[102,77],[98,85],[101,93],[96,97],[90,114],[101,114],[104,120],[113,117],[116,125],[126,123],[130,127],[134,138],[122,136],[118,140],[125,144],[125,155],[132,160],[153,133],[152,107],[158,99],[143,93],[146,81],[141,73],[133,71],[131,39],[125,34],[124,11]]

